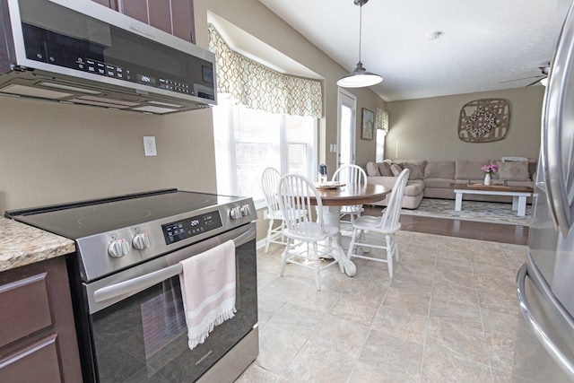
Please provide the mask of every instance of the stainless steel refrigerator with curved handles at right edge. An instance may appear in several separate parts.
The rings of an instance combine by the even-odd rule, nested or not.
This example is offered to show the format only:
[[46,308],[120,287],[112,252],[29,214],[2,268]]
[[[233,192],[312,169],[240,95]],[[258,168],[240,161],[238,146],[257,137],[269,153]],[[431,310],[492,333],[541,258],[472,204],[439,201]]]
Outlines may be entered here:
[[542,144],[526,263],[516,382],[574,381],[574,12],[561,31],[544,95]]

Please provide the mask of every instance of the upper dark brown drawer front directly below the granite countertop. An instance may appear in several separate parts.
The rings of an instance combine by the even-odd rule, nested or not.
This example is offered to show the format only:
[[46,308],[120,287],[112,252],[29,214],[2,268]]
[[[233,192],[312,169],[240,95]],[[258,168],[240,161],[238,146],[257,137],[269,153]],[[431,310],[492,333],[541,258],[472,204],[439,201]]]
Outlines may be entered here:
[[52,325],[47,276],[0,285],[0,347]]

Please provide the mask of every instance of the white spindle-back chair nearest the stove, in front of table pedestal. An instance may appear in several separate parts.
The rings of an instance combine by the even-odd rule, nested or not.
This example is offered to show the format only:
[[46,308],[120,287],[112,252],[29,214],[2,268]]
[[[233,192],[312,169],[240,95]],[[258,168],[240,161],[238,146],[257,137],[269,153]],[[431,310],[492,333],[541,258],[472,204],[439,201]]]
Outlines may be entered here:
[[[323,222],[323,202],[317,188],[307,178],[286,174],[279,181],[278,195],[286,226],[283,234],[287,237],[280,275],[287,264],[313,270],[317,291],[321,290],[321,272],[327,267],[338,263],[341,272],[354,275],[354,265],[338,242],[339,228]],[[311,197],[317,201],[317,209],[311,205]],[[314,210],[317,221],[313,220]]]

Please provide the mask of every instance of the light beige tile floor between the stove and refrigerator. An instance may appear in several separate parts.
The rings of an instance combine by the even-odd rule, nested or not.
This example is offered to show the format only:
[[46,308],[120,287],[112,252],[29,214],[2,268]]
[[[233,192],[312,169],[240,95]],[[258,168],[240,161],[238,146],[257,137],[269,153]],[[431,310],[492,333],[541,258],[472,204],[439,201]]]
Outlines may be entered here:
[[526,248],[400,231],[401,261],[353,258],[317,292],[282,248],[258,251],[260,352],[238,382],[510,382]]

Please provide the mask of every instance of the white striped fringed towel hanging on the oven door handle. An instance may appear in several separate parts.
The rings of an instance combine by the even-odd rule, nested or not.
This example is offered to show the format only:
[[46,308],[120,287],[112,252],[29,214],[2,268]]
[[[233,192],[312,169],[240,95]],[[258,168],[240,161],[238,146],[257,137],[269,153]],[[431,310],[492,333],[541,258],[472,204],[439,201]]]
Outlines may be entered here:
[[235,243],[228,240],[180,262],[189,349],[203,344],[213,327],[235,316]]

